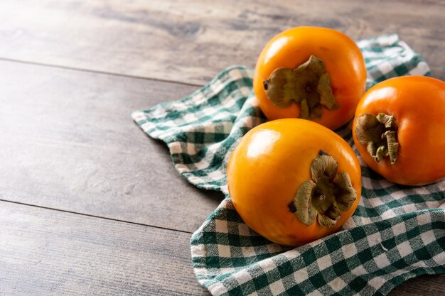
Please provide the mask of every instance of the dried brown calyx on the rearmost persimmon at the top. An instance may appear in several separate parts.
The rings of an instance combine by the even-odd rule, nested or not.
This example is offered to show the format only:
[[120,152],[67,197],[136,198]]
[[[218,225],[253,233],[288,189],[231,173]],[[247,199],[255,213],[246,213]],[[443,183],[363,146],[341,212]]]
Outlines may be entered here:
[[311,55],[309,60],[296,67],[277,68],[264,81],[269,100],[279,108],[286,108],[292,102],[300,105],[300,118],[320,118],[323,107],[338,109],[333,96],[331,79],[325,71],[323,61]]

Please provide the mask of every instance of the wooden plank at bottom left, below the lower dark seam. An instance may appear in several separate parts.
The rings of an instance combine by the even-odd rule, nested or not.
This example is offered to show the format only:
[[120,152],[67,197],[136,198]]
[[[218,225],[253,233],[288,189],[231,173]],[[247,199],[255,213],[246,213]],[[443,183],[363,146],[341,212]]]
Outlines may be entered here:
[[0,295],[208,295],[190,234],[0,202]]

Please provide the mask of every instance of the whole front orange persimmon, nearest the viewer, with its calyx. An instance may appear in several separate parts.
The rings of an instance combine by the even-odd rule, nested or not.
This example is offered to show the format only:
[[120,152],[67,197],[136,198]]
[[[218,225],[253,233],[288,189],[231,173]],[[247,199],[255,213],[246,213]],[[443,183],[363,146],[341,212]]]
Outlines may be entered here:
[[278,119],[241,139],[227,165],[227,185],[250,228],[275,243],[301,246],[332,234],[353,214],[360,165],[328,128]]

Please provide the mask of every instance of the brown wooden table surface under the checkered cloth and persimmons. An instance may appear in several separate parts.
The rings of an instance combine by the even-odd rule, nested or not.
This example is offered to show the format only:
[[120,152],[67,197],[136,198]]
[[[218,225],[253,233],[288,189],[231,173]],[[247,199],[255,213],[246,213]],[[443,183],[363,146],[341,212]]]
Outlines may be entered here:
[[445,80],[444,16],[443,0],[1,0],[0,295],[208,295],[188,241],[222,196],[189,185],[129,114],[253,67],[302,25],[399,33]]

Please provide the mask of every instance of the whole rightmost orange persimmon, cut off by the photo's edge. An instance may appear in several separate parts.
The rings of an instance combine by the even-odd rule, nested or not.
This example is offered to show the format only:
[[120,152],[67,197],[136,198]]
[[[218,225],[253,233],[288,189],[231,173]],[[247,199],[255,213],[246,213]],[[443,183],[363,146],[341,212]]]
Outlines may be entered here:
[[355,112],[353,139],[372,170],[402,185],[445,178],[445,82],[404,76],[365,93]]

